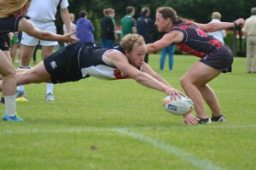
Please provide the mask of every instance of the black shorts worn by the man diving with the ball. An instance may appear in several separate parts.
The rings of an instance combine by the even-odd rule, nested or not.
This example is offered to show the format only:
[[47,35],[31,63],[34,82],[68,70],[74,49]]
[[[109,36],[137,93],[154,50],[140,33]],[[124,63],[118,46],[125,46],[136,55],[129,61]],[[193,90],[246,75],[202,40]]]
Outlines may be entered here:
[[81,46],[77,43],[68,45],[44,59],[45,69],[51,75],[51,81],[54,84],[75,82],[84,78],[78,61],[80,48]]

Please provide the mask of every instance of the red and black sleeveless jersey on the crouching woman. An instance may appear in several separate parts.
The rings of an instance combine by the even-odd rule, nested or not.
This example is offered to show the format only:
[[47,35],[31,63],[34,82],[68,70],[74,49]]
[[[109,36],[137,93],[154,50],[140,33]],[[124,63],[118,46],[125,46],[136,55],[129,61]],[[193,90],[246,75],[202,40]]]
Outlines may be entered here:
[[175,44],[178,49],[200,58],[212,54],[214,50],[224,46],[222,42],[201,31],[189,20],[172,26],[171,31],[183,32],[183,41]]

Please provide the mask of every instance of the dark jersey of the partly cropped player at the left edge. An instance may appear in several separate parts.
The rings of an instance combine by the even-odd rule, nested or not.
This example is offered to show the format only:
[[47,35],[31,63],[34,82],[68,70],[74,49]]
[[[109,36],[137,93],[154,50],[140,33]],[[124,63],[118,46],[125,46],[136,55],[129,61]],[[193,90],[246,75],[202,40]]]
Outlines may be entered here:
[[6,18],[0,18],[0,34],[18,31],[23,14],[15,14]]

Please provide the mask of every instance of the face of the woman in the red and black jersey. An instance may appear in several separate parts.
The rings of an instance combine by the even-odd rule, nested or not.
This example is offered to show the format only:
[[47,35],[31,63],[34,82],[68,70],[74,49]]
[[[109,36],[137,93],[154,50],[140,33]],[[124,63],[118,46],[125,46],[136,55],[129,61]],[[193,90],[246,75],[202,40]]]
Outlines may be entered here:
[[155,14],[155,22],[154,25],[157,26],[158,31],[166,31],[168,32],[171,29],[170,20],[164,19],[163,15],[157,12]]

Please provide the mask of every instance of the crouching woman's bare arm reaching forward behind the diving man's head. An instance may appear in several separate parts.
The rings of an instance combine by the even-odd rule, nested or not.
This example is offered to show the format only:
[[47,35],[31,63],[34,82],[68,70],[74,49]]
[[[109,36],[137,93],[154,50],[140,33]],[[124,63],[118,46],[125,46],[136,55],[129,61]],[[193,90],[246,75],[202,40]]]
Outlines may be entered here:
[[147,54],[159,51],[162,48],[166,48],[172,43],[181,42],[183,40],[183,33],[181,31],[171,31],[166,33],[160,40],[147,43]]

